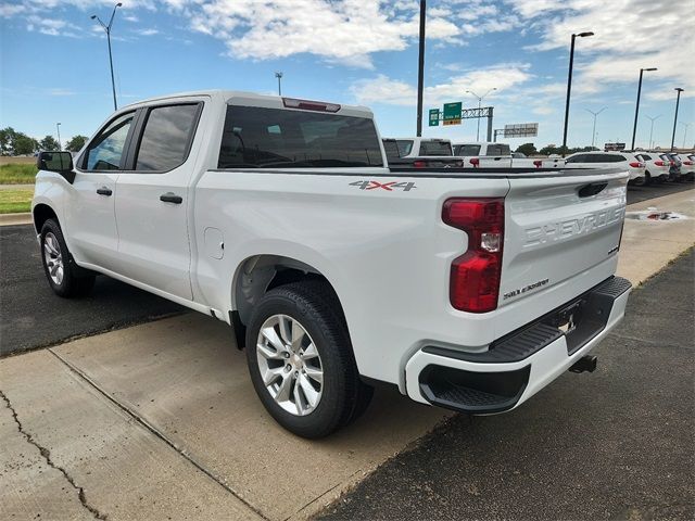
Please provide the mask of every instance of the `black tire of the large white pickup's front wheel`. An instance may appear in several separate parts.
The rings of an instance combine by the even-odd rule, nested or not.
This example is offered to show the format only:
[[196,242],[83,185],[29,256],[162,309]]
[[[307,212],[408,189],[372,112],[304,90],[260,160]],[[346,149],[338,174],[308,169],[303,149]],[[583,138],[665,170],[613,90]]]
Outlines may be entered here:
[[[54,268],[49,263],[54,260],[47,259],[47,240],[58,250],[58,258],[62,262],[62,279],[54,280],[51,276],[51,269]],[[55,255],[51,256],[56,258]],[[43,272],[49,285],[58,296],[64,298],[72,298],[75,296],[87,295],[94,285],[94,275],[81,269],[75,264],[73,256],[67,250],[65,239],[60,225],[54,219],[48,219],[41,227],[41,264],[43,265]]]

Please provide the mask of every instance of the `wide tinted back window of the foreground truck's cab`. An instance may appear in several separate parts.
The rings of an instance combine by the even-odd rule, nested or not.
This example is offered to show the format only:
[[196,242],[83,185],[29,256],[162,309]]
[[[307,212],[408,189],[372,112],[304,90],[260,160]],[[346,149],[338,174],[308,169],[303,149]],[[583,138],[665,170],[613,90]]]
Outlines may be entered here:
[[367,117],[227,107],[219,168],[383,166],[374,122]]

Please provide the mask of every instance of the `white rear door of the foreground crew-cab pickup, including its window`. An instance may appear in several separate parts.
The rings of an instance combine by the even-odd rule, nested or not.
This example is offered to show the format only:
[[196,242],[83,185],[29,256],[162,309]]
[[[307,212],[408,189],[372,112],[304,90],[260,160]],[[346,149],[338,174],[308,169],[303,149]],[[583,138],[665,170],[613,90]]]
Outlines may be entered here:
[[[192,298],[188,230],[192,150],[203,100],[142,110],[128,171],[116,185],[119,271],[157,290]],[[200,141],[200,138],[198,139]]]

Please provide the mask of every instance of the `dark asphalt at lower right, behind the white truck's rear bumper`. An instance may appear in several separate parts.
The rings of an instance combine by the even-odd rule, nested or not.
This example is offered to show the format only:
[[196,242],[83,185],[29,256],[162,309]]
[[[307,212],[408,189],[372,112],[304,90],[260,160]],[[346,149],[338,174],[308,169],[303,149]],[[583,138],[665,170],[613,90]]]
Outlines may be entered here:
[[596,372],[455,415],[319,519],[693,519],[694,267],[691,250],[633,292]]

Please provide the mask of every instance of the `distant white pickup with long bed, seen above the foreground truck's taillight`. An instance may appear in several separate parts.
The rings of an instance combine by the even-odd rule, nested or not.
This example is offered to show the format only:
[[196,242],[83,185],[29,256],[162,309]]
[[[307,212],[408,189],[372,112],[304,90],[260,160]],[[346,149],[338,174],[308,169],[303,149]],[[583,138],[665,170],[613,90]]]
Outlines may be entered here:
[[488,141],[453,143],[454,155],[464,167],[473,168],[563,168],[561,157],[515,157],[506,143]]

